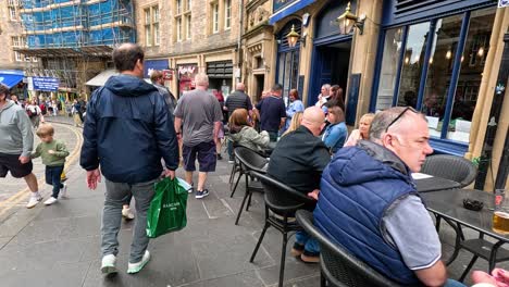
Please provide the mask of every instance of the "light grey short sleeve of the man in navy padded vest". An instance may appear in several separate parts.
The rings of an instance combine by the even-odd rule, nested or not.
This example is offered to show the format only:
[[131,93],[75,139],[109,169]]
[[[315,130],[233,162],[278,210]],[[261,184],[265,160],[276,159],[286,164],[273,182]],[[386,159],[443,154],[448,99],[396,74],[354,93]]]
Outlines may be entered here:
[[384,239],[401,253],[413,271],[433,266],[442,257],[442,244],[433,221],[417,196],[396,201],[382,219]]

